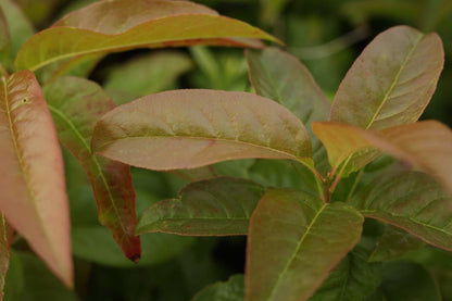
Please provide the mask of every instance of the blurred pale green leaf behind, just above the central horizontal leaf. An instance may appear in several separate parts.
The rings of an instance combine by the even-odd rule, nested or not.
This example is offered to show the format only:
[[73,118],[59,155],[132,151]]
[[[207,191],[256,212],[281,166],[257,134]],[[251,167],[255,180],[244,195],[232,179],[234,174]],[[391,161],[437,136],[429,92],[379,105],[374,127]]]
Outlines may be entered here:
[[[175,79],[191,67],[192,63],[184,52],[151,53],[113,66],[103,87],[117,104],[122,104],[139,97],[175,88]],[[117,92],[130,97],[115,99]]]

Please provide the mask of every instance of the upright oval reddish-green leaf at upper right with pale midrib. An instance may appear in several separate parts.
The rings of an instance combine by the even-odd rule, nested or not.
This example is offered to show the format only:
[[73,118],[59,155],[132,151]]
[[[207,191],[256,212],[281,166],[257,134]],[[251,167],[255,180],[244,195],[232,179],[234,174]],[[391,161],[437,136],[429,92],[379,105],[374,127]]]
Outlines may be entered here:
[[384,32],[340,84],[330,121],[366,129],[416,122],[434,95],[443,57],[437,34],[407,26]]

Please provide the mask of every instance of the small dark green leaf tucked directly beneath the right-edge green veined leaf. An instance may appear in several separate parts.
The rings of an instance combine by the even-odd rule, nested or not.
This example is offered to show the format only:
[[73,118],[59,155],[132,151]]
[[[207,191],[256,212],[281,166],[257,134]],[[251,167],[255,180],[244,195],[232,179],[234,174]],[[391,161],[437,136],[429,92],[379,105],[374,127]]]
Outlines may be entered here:
[[424,244],[424,241],[404,229],[388,225],[368,261],[376,262],[395,259],[406,252],[417,250]]

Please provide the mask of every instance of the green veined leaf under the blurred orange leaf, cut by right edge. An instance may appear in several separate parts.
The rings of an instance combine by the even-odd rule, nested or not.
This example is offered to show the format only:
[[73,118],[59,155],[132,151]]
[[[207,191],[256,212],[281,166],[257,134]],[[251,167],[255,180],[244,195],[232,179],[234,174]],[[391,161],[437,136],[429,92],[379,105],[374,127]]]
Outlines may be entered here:
[[366,216],[402,228],[438,248],[452,250],[450,197],[419,172],[382,175],[351,199]]

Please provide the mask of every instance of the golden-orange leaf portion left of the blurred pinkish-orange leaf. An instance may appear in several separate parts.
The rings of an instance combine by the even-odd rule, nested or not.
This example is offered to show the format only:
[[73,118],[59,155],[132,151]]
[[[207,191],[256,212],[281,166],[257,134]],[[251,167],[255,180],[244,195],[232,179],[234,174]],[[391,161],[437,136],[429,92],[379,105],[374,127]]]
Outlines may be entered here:
[[341,167],[342,177],[362,168],[379,154],[379,151],[353,126],[316,122],[312,125],[312,130],[325,146],[332,170]]

